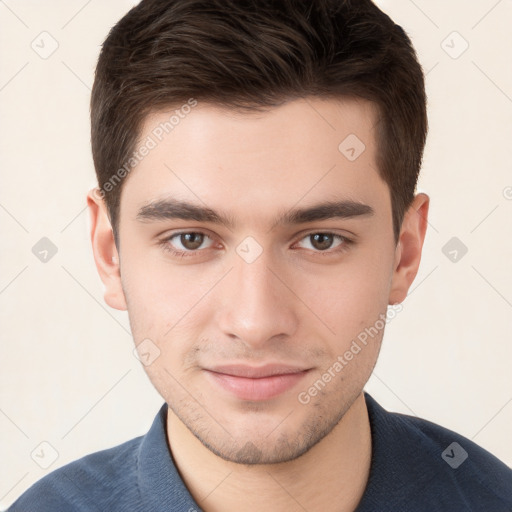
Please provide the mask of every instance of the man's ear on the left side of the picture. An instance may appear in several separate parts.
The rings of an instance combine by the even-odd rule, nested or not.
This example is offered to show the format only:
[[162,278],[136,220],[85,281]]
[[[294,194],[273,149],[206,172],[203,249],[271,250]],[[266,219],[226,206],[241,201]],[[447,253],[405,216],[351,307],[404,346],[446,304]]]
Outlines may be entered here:
[[87,194],[92,251],[98,274],[104,285],[105,302],[114,309],[125,311],[126,299],[121,285],[119,254],[114,233],[101,191],[93,188]]

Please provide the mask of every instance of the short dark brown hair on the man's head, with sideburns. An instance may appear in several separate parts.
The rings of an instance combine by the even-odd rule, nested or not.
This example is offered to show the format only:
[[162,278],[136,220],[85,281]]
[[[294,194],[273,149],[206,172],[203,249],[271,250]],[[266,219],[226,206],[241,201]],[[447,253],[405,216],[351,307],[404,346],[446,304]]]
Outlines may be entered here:
[[91,97],[94,165],[117,246],[121,178],[149,113],[190,98],[245,111],[306,96],[378,106],[378,172],[396,243],[427,135],[423,71],[399,25],[370,0],[143,0],[132,8],[103,44]]

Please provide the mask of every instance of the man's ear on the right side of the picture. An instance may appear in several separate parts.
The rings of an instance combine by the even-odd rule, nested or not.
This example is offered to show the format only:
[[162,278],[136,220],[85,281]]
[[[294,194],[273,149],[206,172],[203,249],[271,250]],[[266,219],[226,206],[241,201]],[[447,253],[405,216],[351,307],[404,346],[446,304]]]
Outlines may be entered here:
[[389,304],[398,304],[405,300],[409,287],[418,273],[427,231],[429,204],[430,198],[427,194],[417,194],[404,215],[396,246]]

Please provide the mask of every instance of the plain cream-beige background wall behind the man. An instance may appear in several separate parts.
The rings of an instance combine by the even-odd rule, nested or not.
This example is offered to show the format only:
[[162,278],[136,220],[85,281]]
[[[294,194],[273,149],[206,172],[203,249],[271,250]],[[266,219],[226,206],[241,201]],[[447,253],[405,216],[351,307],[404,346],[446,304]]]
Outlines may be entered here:
[[[145,433],[163,403],[126,313],[103,302],[85,209],[93,70],[134,3],[0,1],[0,508],[49,471]],[[419,191],[431,212],[366,390],[512,465],[512,1],[378,3],[428,72]],[[46,263],[32,253],[43,237],[58,250]],[[443,252],[452,237],[468,248],[455,262]]]

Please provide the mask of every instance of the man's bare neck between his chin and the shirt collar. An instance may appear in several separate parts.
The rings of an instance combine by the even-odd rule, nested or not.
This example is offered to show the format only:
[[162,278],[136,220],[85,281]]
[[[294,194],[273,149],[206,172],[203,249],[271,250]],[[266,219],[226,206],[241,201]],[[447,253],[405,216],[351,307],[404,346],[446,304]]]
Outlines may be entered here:
[[326,437],[289,462],[247,466],[226,461],[171,409],[167,437],[185,485],[205,512],[239,512],[248,505],[254,512],[352,512],[370,472],[371,430],[363,393]]

